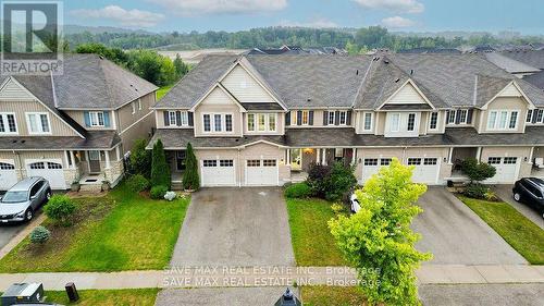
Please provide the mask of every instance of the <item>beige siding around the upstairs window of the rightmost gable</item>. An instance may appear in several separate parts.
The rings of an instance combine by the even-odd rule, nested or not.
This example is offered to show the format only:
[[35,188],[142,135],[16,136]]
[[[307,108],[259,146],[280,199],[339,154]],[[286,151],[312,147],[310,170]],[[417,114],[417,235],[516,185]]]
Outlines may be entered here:
[[[492,110],[507,110],[507,111],[518,111],[518,126],[516,130],[500,130],[500,131],[490,131],[487,130],[487,120],[490,112]],[[523,98],[520,97],[498,97],[487,106],[487,109],[482,111],[479,123],[480,133],[523,133],[526,130],[526,118],[527,118],[528,103]],[[498,119],[497,119],[498,120]]]

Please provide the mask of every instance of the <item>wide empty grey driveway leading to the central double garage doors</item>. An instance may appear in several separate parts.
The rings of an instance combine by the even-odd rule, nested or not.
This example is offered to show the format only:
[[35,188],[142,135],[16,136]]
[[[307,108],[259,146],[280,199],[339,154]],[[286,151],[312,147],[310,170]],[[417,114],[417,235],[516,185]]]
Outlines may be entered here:
[[171,266],[295,266],[279,187],[203,188],[193,195]]

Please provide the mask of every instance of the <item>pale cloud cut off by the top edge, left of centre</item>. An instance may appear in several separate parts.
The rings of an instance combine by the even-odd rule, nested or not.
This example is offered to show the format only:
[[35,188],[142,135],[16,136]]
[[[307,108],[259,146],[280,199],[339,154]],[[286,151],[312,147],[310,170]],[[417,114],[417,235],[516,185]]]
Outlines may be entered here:
[[280,11],[287,0],[148,0],[180,15]]

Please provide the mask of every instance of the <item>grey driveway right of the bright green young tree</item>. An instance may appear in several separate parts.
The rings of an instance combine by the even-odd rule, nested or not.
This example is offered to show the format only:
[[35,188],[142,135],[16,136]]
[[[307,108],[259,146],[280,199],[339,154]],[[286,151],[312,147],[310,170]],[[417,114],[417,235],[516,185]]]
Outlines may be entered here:
[[430,187],[420,198],[423,213],[412,224],[422,234],[417,248],[431,252],[428,264],[527,264],[503,237],[444,187]]

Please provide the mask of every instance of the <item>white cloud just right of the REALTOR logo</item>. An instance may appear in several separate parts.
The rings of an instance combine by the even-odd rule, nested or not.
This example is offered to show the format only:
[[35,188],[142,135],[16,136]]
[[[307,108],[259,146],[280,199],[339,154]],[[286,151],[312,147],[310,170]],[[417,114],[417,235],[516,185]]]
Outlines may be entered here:
[[77,17],[111,20],[119,22],[123,26],[138,27],[151,27],[164,20],[163,14],[140,10],[125,10],[119,5],[108,5],[98,10],[73,10],[70,13]]

